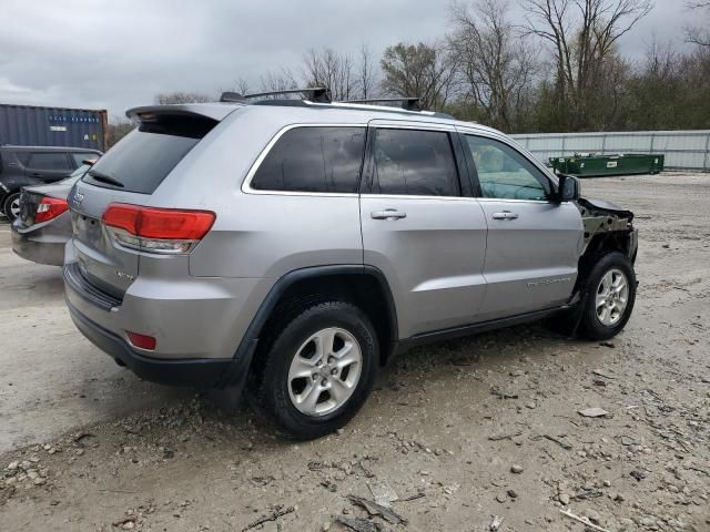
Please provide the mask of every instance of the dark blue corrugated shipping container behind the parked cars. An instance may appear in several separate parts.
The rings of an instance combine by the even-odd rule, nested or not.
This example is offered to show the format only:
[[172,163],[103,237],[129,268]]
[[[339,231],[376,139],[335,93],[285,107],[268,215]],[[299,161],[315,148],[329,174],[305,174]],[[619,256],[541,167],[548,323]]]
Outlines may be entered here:
[[105,151],[106,111],[0,103],[0,144]]

